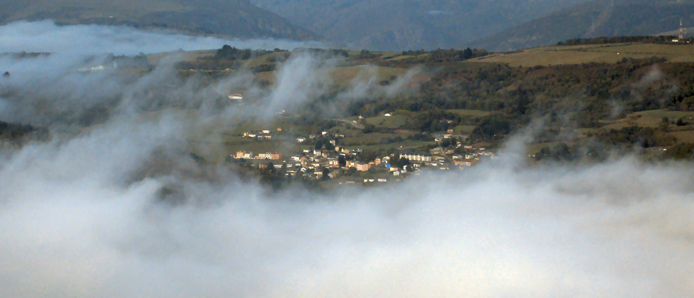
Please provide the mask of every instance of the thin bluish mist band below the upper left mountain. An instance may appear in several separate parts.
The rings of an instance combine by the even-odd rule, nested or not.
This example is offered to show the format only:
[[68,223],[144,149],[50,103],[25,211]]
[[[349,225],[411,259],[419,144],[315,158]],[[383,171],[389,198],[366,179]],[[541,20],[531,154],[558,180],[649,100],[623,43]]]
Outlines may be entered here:
[[137,55],[167,51],[219,49],[224,44],[239,49],[296,49],[321,47],[320,42],[291,40],[225,40],[183,35],[173,30],[137,30],[128,26],[57,26],[53,21],[17,21],[0,26],[0,53],[47,52],[92,55]]

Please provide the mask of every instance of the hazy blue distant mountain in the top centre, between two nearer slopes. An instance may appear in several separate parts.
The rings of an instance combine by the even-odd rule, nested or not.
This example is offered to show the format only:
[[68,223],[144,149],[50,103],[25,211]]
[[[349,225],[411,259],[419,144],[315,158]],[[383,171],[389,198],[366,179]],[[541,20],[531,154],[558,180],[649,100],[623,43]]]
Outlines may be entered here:
[[357,49],[450,48],[588,0],[251,0]]

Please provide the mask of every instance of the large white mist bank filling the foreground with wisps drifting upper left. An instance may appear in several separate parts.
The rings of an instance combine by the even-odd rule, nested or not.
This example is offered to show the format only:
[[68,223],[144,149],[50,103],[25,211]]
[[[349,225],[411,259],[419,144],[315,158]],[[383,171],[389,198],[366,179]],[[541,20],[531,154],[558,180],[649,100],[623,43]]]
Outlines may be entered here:
[[[228,166],[196,164],[181,153],[187,130],[307,103],[325,94],[337,62],[297,55],[268,94],[258,91],[260,111],[214,112],[210,94],[257,88],[250,73],[199,89],[199,78],[174,75],[175,56],[141,77],[79,73],[83,62],[60,57],[0,60],[17,72],[5,87],[44,98],[3,99],[0,120],[47,118],[53,132],[0,155],[0,297],[694,295],[691,164],[530,166],[521,135],[501,158],[462,171],[273,192]],[[375,87],[366,70],[366,85],[351,82],[343,100],[406,92],[416,73]],[[153,101],[204,115],[143,112]],[[107,119],[56,129],[102,103],[112,104]],[[152,171],[153,159],[166,169]],[[177,204],[162,200],[171,186]]]

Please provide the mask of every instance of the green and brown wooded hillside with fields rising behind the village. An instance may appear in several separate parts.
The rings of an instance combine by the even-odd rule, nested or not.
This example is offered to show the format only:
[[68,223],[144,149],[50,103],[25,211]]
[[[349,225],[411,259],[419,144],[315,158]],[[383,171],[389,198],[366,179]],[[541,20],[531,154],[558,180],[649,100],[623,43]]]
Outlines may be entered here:
[[[544,119],[543,128],[527,148],[535,161],[604,160],[614,152],[641,147],[648,158],[694,157],[693,146],[688,144],[694,140],[694,80],[686,71],[694,63],[693,46],[642,42],[549,46],[464,61],[441,59],[455,57],[445,56],[441,50],[412,55],[350,52],[329,72],[332,91],[325,97],[307,100],[271,125],[251,121],[219,132],[212,128],[224,125],[210,123],[210,128],[196,130],[189,139],[199,146],[217,143],[217,151],[205,155],[191,150],[217,161],[239,150],[280,150],[283,155],[294,155],[315,148],[316,141],[282,146],[287,139],[309,139],[309,134],[322,131],[331,136],[340,134],[335,138],[341,147],[361,148],[363,156],[446,148],[451,143],[437,144],[432,137],[444,132],[459,135],[471,146],[495,148],[533,119]],[[182,63],[181,76],[204,76],[213,81],[236,71],[235,67],[225,69],[230,65],[226,60],[199,60],[199,55],[190,57],[189,63],[207,70],[189,71]],[[239,69],[253,70],[257,86],[271,89],[280,78],[278,58],[291,55],[294,53],[289,51],[255,51],[251,58],[236,62]],[[255,67],[263,64],[269,67]],[[330,105],[353,85],[362,69],[359,66],[364,64],[378,66],[376,80],[384,86],[402,78],[412,67],[425,71],[413,77],[409,83],[412,89],[406,95],[374,93],[341,105],[334,116],[311,116],[325,114],[325,104]],[[261,107],[265,103],[262,98],[248,96],[241,105]],[[282,130],[273,133],[271,140],[243,136],[265,127]],[[465,151],[455,146],[447,150]]]

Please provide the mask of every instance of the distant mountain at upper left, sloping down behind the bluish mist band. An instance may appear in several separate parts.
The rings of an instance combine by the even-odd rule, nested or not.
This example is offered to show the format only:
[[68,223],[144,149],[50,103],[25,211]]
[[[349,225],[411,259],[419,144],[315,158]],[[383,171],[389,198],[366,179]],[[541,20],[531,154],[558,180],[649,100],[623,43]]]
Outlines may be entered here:
[[321,36],[248,0],[1,0],[0,24],[53,19],[58,24],[125,24],[239,38],[320,40]]

